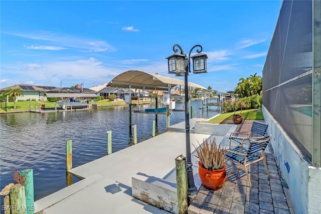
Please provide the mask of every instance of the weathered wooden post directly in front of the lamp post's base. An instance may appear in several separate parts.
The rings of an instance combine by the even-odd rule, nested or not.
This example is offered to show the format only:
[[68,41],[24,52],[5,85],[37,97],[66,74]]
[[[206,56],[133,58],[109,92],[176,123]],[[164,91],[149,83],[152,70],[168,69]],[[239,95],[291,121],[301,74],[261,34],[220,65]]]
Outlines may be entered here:
[[187,213],[188,208],[188,183],[186,173],[186,157],[183,155],[175,159],[176,180],[177,180],[177,200],[179,213]]

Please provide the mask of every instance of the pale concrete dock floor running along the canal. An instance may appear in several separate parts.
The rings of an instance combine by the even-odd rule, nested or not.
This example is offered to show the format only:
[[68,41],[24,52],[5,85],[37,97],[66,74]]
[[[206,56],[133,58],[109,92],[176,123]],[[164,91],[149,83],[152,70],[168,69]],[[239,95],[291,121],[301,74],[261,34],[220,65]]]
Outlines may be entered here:
[[[200,188],[192,144],[214,137],[219,143],[225,136],[195,134],[196,122],[197,119],[190,120],[190,138],[194,179]],[[185,122],[169,127],[166,133],[71,169],[70,173],[83,179],[35,201],[35,212],[168,213],[134,198],[132,177],[144,175],[176,189],[175,159],[180,155],[186,156]]]

